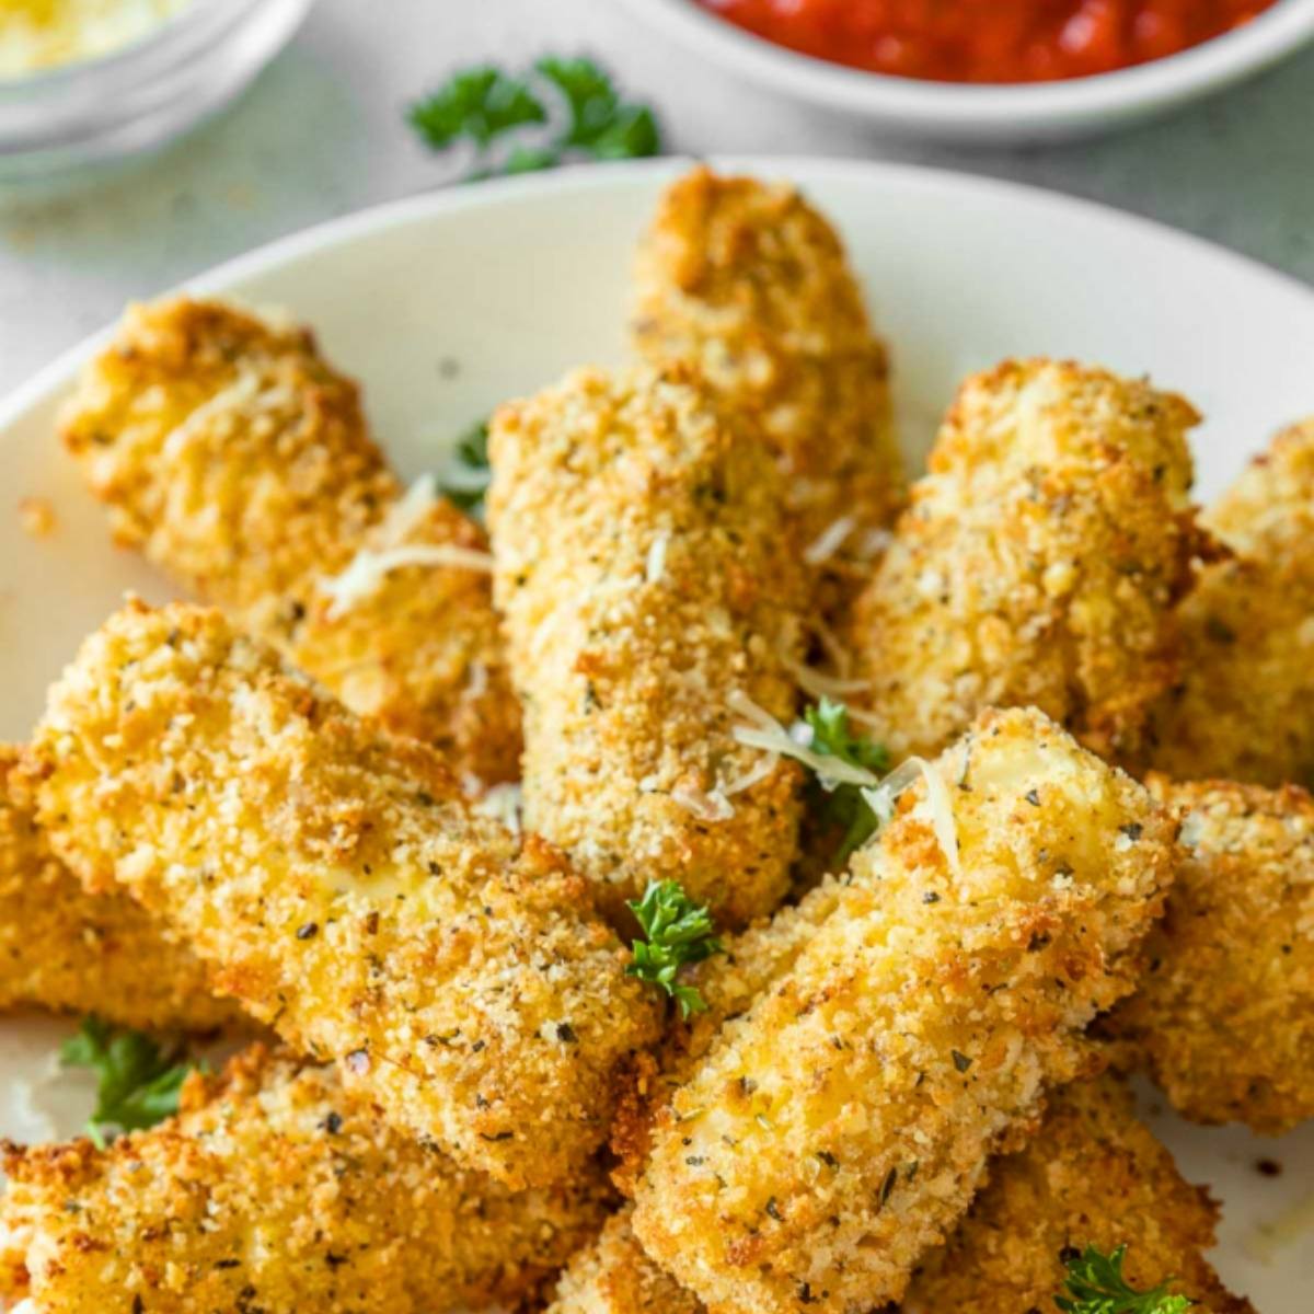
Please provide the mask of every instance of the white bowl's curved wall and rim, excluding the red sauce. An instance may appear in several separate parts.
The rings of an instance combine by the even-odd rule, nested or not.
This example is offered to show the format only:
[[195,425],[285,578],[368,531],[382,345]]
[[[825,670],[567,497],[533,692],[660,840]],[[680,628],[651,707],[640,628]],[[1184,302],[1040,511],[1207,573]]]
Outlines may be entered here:
[[1230,87],[1314,41],[1314,0],[1279,0],[1215,41],[1122,72],[963,85],[813,59],[716,17],[696,0],[625,3],[699,54],[787,96],[866,120],[890,135],[968,143],[1092,137]]

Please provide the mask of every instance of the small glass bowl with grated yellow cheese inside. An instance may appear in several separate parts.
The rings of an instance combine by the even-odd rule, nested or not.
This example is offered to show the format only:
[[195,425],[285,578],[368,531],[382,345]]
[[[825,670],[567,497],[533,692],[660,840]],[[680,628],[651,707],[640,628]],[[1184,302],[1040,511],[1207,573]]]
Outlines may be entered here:
[[313,0],[0,0],[0,185],[173,139],[231,101]]

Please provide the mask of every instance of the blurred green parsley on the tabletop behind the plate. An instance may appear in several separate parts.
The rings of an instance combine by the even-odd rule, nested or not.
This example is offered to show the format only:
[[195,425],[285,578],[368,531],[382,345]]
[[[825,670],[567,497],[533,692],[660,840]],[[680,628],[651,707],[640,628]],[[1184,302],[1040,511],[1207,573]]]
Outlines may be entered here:
[[461,68],[411,105],[407,118],[434,150],[469,142],[469,177],[661,152],[652,109],[624,100],[606,70],[582,57],[545,55],[522,75],[494,64]]

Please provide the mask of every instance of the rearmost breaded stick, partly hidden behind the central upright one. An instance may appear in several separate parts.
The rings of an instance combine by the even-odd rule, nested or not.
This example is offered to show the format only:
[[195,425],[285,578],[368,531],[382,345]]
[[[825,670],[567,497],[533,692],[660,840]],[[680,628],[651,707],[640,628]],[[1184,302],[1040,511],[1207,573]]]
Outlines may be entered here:
[[695,365],[757,417],[788,480],[796,547],[820,553],[842,533],[824,569],[866,574],[904,478],[886,347],[834,229],[788,184],[696,168],[658,202],[635,293],[637,352]]

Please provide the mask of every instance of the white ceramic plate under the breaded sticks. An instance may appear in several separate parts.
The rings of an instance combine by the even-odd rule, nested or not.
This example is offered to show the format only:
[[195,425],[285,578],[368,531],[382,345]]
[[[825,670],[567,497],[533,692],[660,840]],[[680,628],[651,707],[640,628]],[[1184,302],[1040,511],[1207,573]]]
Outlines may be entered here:
[[[1206,498],[1277,426],[1314,411],[1314,294],[1236,256],[1000,183],[851,163],[724,163],[796,180],[842,229],[895,348],[913,457],[959,376],[1008,355],[1081,357],[1185,392],[1208,415],[1196,444]],[[365,381],[381,440],[414,476],[502,398],[569,365],[622,356],[631,250],[681,167],[594,166],[426,196],[276,243],[194,286],[281,305],[313,325],[330,357]],[[46,683],[125,589],[168,595],[108,545],[101,510],[53,436],[58,398],[96,346],[0,405],[8,738],[30,729]],[[54,505],[51,537],[21,531],[14,507],[25,495]],[[57,1034],[45,1022],[0,1024],[0,1133],[30,1134],[13,1077],[41,1077]],[[1309,1314],[1314,1125],[1261,1142],[1155,1121],[1187,1175],[1226,1202],[1217,1256],[1226,1279],[1264,1314]],[[1282,1175],[1260,1175],[1260,1158],[1280,1162]]]

